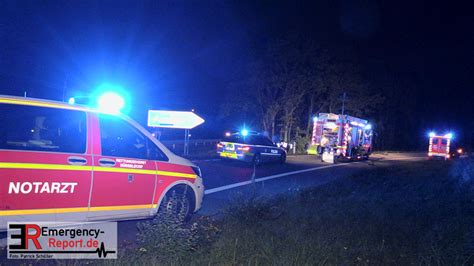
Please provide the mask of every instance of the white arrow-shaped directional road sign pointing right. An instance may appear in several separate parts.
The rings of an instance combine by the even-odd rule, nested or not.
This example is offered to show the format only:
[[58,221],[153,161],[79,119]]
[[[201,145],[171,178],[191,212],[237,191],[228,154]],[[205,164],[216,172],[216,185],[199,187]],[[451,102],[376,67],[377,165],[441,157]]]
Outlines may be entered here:
[[148,110],[149,127],[192,129],[204,123],[193,112]]

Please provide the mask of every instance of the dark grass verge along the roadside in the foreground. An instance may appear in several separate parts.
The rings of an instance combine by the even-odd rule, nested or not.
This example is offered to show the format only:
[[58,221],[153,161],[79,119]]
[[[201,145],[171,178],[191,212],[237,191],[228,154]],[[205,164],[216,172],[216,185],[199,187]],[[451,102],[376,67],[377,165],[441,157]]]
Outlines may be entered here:
[[107,263],[472,265],[473,187],[459,169],[407,163],[274,199],[236,196],[219,221],[141,224],[140,248]]

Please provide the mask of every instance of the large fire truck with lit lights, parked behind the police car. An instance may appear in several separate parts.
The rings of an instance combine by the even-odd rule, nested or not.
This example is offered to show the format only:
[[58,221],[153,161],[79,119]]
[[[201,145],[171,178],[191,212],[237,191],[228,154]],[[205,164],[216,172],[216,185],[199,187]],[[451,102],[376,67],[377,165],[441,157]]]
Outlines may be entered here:
[[313,119],[313,136],[308,154],[323,162],[367,159],[372,152],[372,126],[349,115],[321,113]]

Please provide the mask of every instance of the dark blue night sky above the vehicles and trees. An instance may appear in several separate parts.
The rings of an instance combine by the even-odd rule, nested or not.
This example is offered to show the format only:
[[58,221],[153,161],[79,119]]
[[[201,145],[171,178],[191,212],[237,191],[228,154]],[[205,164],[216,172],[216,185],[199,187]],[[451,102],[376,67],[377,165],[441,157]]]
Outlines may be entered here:
[[216,137],[220,102],[246,65],[269,40],[298,35],[353,47],[369,73],[411,76],[413,115],[467,136],[473,25],[467,4],[433,1],[0,0],[0,93],[61,100],[115,84],[133,118],[194,108],[207,120],[198,134]]

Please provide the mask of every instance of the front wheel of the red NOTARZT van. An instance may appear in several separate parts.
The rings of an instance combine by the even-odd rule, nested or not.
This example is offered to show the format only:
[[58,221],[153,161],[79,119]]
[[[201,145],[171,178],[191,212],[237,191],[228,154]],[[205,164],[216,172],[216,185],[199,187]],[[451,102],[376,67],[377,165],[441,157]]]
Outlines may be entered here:
[[189,186],[172,188],[161,201],[158,214],[184,223],[191,219],[194,211],[194,196]]

